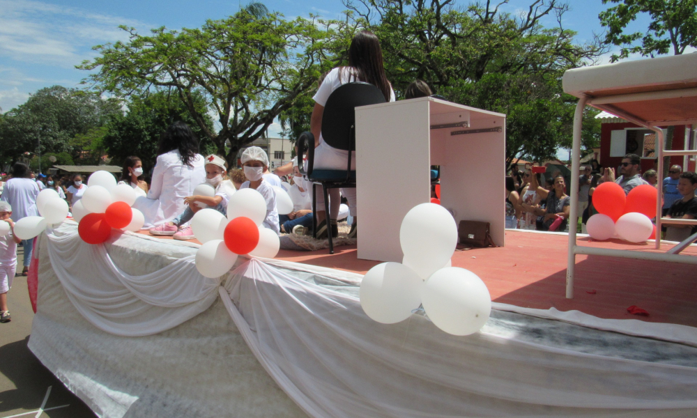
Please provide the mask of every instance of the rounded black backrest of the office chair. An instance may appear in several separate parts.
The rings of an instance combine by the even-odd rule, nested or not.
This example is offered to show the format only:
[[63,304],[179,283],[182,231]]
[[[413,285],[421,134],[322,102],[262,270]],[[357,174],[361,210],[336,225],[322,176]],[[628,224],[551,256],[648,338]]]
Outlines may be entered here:
[[324,107],[324,141],[339,150],[355,150],[355,108],[385,101],[383,92],[369,83],[353,82],[339,86],[329,95]]

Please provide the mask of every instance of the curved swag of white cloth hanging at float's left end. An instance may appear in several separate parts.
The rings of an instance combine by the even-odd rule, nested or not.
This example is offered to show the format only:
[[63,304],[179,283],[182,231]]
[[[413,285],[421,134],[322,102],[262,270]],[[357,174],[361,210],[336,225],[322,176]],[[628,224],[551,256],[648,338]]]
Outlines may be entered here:
[[100,330],[123,336],[158,334],[197,316],[217,299],[218,279],[201,276],[194,256],[132,276],[118,268],[104,245],[77,234],[48,232],[51,265],[75,309]]

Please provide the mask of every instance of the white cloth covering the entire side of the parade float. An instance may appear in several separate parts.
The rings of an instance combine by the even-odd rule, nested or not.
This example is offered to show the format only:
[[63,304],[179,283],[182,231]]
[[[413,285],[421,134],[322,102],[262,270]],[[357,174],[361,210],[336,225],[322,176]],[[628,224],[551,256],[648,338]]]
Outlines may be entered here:
[[240,258],[221,287],[193,251],[49,233],[29,347],[114,418],[697,416],[692,346],[499,310],[466,337],[383,325],[356,274]]

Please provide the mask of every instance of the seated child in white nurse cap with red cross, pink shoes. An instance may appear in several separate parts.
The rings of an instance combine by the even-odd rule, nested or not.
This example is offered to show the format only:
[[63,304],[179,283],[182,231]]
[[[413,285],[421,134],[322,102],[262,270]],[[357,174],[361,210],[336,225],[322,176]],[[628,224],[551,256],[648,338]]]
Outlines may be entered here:
[[171,222],[155,226],[150,229],[151,235],[174,235],[175,240],[191,240],[196,238],[187,222],[194,217],[194,213],[201,210],[197,203],[203,203],[217,210],[223,215],[227,215],[227,203],[230,196],[235,192],[232,182],[227,179],[225,170],[227,162],[217,155],[206,157],[206,183],[215,187],[215,196],[187,196],[184,202],[189,205],[178,217]]

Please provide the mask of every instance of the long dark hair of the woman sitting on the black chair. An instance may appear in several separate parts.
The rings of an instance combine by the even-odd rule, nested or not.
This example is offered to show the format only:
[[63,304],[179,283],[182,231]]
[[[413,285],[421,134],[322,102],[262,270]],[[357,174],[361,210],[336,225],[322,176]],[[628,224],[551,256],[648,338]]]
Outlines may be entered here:
[[[348,67],[355,70],[355,77],[359,81],[376,86],[383,92],[385,100],[390,101],[392,87],[385,75],[383,49],[375,33],[360,31],[355,34],[348,47]],[[350,75],[347,67],[342,67],[339,72],[340,78],[350,78]]]

